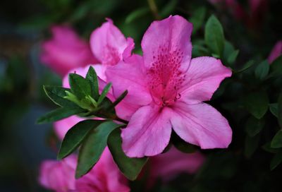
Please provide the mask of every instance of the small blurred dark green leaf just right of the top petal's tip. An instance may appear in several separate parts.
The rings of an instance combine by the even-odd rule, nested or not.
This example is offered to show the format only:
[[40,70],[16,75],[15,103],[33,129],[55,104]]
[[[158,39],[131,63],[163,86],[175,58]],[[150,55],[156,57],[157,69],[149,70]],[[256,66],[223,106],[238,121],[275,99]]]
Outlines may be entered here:
[[193,24],[193,33],[199,30],[204,23],[204,17],[206,16],[207,8],[204,6],[200,8],[196,8],[195,11],[192,12],[192,16],[190,17],[190,22]]

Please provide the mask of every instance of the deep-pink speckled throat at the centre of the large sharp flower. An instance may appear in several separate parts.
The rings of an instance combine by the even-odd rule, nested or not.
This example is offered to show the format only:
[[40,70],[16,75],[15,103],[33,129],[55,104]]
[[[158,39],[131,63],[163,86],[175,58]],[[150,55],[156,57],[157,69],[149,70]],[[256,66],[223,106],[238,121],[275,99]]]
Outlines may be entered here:
[[147,70],[147,76],[155,103],[168,106],[181,97],[178,89],[185,79],[185,74],[179,70],[182,59],[180,49],[171,51],[160,46],[157,52],[153,52],[152,67]]

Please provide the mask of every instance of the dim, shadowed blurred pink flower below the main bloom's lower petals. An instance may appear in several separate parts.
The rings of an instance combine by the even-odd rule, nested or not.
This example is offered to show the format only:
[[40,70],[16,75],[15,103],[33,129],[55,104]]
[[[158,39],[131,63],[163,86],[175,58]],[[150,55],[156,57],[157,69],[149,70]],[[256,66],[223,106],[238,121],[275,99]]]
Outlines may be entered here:
[[149,178],[163,181],[175,179],[178,174],[195,174],[204,163],[200,152],[183,153],[172,147],[168,152],[154,156],[149,161]]

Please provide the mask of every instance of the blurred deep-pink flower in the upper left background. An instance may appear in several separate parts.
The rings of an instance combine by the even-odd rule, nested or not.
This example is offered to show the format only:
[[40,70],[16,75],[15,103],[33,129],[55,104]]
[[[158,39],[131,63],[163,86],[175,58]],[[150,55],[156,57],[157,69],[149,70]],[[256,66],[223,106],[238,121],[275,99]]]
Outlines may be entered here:
[[42,43],[42,63],[60,76],[65,76],[72,68],[96,64],[90,46],[67,26],[53,26],[53,37]]

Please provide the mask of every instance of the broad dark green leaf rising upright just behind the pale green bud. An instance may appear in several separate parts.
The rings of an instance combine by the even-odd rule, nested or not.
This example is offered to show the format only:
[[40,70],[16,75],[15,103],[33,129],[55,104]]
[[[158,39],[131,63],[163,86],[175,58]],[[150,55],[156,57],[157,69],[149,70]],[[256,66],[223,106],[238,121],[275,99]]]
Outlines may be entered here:
[[76,73],[71,73],[68,76],[68,81],[71,85],[71,90],[73,94],[76,95],[79,100],[82,100],[84,97],[91,95],[92,92],[90,82],[82,76]]

